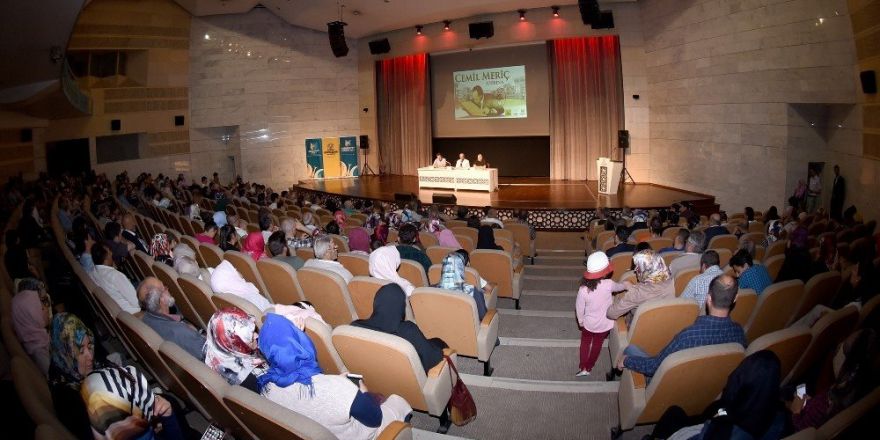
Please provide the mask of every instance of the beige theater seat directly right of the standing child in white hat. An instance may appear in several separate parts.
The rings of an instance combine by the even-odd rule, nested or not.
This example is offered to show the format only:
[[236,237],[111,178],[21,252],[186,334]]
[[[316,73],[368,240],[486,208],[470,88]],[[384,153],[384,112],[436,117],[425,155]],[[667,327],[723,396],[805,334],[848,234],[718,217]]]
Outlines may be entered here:
[[697,304],[689,299],[659,299],[639,305],[629,328],[624,317],[618,318],[611,328],[608,350],[612,364],[629,344],[656,355],[678,332],[693,324],[698,315]]

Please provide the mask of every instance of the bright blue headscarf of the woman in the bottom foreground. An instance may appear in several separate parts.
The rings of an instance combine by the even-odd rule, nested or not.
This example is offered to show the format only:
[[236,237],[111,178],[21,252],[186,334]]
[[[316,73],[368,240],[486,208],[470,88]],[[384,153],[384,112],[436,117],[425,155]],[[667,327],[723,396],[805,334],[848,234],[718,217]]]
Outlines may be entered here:
[[266,374],[257,378],[260,389],[269,383],[282,388],[298,383],[311,389],[312,376],[321,374],[312,340],[281,315],[266,314],[260,351],[269,363]]

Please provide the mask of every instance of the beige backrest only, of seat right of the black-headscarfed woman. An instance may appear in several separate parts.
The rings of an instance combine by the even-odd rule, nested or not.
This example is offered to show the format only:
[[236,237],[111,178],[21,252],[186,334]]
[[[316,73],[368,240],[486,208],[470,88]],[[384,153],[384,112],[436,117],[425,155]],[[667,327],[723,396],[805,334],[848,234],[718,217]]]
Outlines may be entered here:
[[480,322],[473,298],[462,292],[420,287],[409,303],[425,337],[440,338],[459,354],[477,357]]

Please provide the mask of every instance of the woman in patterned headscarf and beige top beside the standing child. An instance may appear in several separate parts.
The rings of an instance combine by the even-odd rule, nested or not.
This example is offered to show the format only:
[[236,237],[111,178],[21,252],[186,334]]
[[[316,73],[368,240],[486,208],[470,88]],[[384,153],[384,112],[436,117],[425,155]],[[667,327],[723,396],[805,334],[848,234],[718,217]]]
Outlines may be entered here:
[[608,319],[617,319],[654,299],[675,298],[675,282],[660,254],[641,251],[633,256],[633,265],[638,282],[623,283],[627,291],[614,297],[608,308]]

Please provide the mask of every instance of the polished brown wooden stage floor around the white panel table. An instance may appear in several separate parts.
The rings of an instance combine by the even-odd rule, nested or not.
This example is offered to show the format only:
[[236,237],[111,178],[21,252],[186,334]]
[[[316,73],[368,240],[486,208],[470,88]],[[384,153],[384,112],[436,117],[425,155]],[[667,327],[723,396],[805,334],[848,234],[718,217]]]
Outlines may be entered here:
[[[457,191],[459,205],[492,206],[499,209],[593,210],[607,208],[661,208],[676,202],[714,204],[714,197],[653,184],[623,185],[615,195],[599,194],[598,182],[550,180],[543,177],[501,177],[498,191]],[[432,203],[432,195],[451,190],[419,189],[416,176],[363,176],[357,179],[300,181],[298,187],[342,197],[394,200],[395,193],[417,194],[423,203]]]

